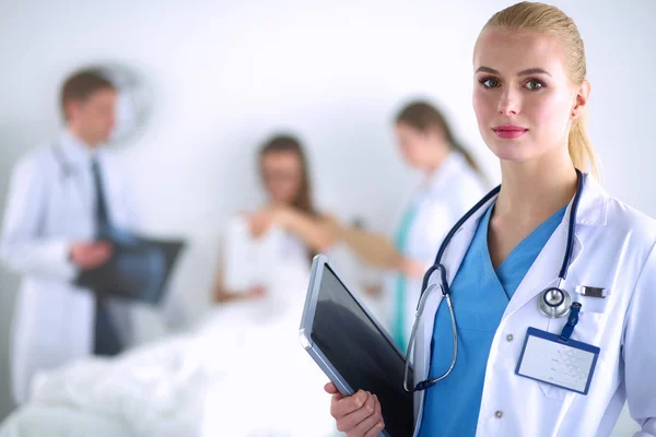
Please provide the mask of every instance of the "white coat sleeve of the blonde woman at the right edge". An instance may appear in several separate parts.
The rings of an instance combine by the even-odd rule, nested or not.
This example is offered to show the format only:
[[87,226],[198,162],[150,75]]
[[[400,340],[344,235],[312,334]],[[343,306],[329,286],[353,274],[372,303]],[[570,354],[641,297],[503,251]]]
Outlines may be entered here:
[[[656,246],[654,246],[656,247]],[[631,416],[642,427],[634,437],[656,437],[656,251],[652,248],[626,314],[622,357]]]

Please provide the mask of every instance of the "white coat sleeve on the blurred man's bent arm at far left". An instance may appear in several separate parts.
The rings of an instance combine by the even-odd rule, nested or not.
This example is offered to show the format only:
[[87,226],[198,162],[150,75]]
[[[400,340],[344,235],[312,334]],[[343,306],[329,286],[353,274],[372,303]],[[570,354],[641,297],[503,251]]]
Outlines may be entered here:
[[42,237],[47,205],[45,169],[36,155],[15,166],[0,236],[0,259],[21,274],[70,281],[77,267],[69,260],[72,241]]

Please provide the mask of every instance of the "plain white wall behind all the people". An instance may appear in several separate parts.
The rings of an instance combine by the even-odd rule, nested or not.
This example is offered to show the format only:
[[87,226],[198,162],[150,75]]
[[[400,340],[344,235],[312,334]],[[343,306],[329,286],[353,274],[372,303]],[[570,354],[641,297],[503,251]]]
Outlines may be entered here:
[[[306,141],[326,210],[390,229],[417,176],[399,163],[389,121],[415,95],[442,104],[496,179],[471,109],[471,51],[485,20],[512,1],[403,3],[0,1],[0,208],[16,157],[57,134],[60,81],[97,60],[128,63],[155,88],[152,123],[125,151],[153,233],[211,235],[253,208],[254,150],[276,128]],[[656,2],[555,3],[586,42],[590,134],[606,186],[656,216]],[[198,259],[208,276],[211,262]],[[180,286],[190,293],[190,284]],[[2,417],[15,277],[2,272],[0,285]]]

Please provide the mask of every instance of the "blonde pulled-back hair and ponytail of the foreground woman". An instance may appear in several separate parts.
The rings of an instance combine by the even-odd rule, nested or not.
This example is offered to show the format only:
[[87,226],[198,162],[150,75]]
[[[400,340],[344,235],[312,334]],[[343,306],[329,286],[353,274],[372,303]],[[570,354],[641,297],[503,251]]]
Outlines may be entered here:
[[[523,1],[492,15],[483,26],[503,27],[513,32],[537,31],[555,36],[565,49],[565,68],[570,80],[581,85],[586,80],[585,48],[578,28],[560,9],[544,3]],[[574,167],[599,177],[597,157],[587,135],[585,114],[572,121],[567,149]]]

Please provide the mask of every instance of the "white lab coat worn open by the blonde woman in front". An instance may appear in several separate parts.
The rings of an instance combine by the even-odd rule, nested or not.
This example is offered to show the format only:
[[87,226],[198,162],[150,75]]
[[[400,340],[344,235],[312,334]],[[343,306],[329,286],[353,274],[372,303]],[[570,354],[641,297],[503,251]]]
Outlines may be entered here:
[[[589,392],[582,395],[515,375],[527,329],[560,333],[566,322],[566,317],[542,316],[536,298],[555,284],[565,251],[570,208],[496,329],[477,436],[608,436],[626,400],[632,417],[642,426],[635,436],[656,436],[656,223],[610,198],[590,176],[585,179],[572,263],[564,283],[572,298],[583,304],[572,338],[601,349]],[[449,283],[484,211],[481,208],[470,217],[446,249],[443,264]],[[438,274],[434,273],[429,284],[438,284]],[[575,293],[576,285],[605,287],[610,296],[581,296]],[[435,286],[420,318],[413,355],[415,382],[425,379],[430,370],[433,323],[441,299],[440,287]],[[430,414],[423,411],[423,392],[415,394],[418,424],[423,414]],[[415,435],[418,429],[415,426]]]

